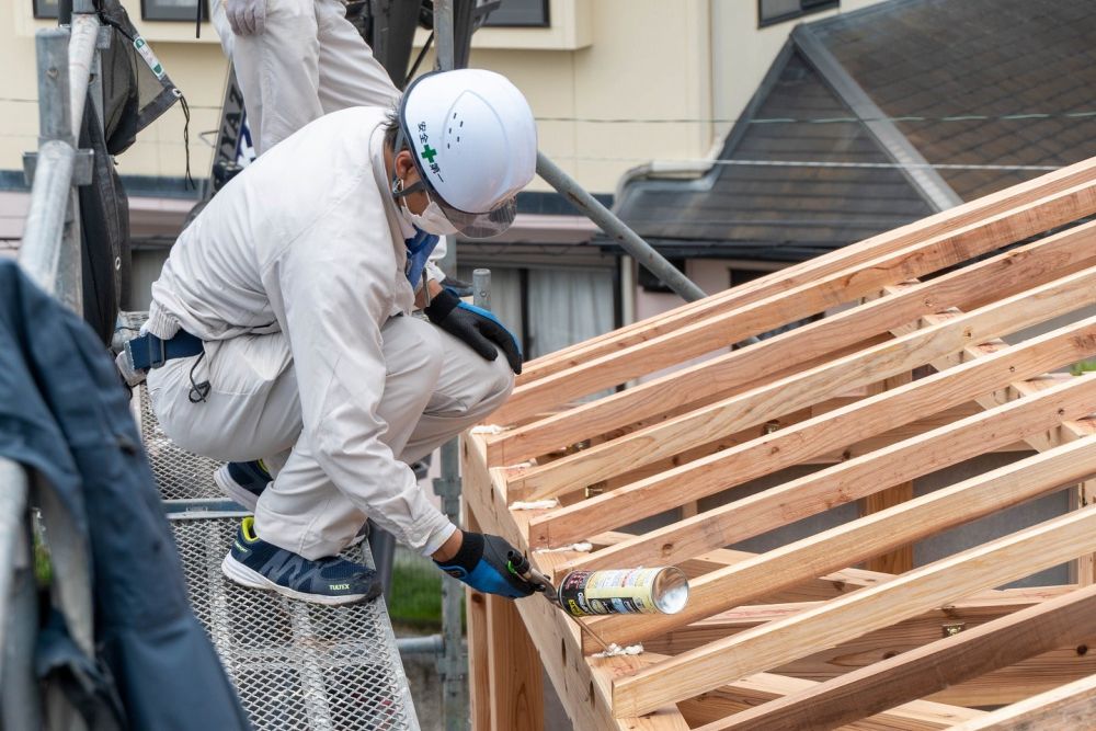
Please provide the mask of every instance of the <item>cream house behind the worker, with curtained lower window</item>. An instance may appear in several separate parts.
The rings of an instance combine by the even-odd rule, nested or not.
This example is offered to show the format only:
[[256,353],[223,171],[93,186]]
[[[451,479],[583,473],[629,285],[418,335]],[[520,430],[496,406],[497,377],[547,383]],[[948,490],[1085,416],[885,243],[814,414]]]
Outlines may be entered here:
[[[476,34],[471,65],[511,77],[538,117],[541,149],[606,203],[621,176],[651,160],[710,159],[789,31],[878,0],[503,0],[500,25]],[[191,108],[190,162],[209,169],[203,139],[218,125],[227,65],[213,27],[162,18],[163,2],[123,0]],[[169,3],[170,4],[170,3]],[[178,4],[175,2],[174,4]],[[37,136],[33,34],[53,24],[49,0],[0,5],[0,239],[18,245],[26,193],[22,153]],[[45,13],[39,11],[47,11]],[[425,39],[422,34],[419,43]],[[427,56],[425,67],[433,62]],[[183,115],[173,111],[118,159],[130,194],[133,301],[147,304],[194,193],[185,170]],[[636,316],[635,267],[594,243],[596,230],[543,181],[520,201],[504,239],[461,242],[459,264],[494,271],[494,305],[530,356]],[[717,288],[722,288],[720,285]],[[666,297],[667,306],[677,301]]]

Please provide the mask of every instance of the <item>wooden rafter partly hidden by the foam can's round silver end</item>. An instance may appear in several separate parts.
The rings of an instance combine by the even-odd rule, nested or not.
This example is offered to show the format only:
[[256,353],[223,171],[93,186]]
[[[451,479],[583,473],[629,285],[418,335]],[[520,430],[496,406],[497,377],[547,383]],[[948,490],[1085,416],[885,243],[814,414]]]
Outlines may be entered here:
[[[1096,388],[1082,408],[1094,407]],[[934,456],[927,454],[924,458],[932,465]],[[613,617],[598,625],[598,635],[618,643],[657,637],[673,627],[850,566],[880,549],[913,542],[1017,505],[1094,472],[1096,437],[1074,442],[706,574],[692,582],[688,605],[680,614],[628,617],[630,623]],[[848,483],[842,482],[841,489],[849,489]],[[787,494],[795,500],[812,500],[795,489]]]

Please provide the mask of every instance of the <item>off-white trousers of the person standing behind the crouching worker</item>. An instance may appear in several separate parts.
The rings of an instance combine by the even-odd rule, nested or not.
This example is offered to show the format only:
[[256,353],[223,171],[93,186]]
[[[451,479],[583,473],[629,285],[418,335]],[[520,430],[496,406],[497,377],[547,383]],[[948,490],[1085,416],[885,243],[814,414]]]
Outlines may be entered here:
[[339,0],[266,0],[260,35],[235,35],[220,0],[213,22],[236,67],[255,155],[330,112],[399,98]]

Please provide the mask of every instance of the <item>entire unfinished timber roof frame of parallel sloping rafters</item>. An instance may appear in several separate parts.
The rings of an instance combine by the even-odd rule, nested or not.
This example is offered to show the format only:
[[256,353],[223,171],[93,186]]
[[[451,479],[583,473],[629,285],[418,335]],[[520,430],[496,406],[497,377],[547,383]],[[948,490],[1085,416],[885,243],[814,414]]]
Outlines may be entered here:
[[[694,586],[693,602],[696,604],[695,607],[690,605],[688,612],[697,614],[673,618],[658,635],[652,633],[659,632],[657,628],[643,625],[641,631],[647,637],[659,637],[655,643],[661,643],[660,647],[680,652],[675,656],[655,658],[649,652],[640,658],[593,661],[583,656],[584,638],[574,624],[547,603],[506,604],[505,608],[515,609],[527,627],[533,642],[529,647],[535,648],[527,648],[518,664],[535,665],[536,659],[544,661],[552,683],[561,688],[564,705],[578,728],[684,731],[701,722],[711,724],[711,729],[753,728],[749,727],[751,718],[772,719],[777,708],[803,713],[803,698],[827,697],[827,692],[833,693],[827,689],[836,687],[841,681],[832,673],[849,666],[860,670],[846,674],[845,683],[853,682],[857,677],[855,674],[860,673],[877,677],[879,688],[888,683],[892,687],[901,681],[897,667],[911,667],[918,658],[926,663],[947,664],[940,659],[948,656],[948,648],[964,643],[981,647],[971,644],[979,635],[963,638],[975,631],[970,629],[960,633],[959,639],[950,638],[924,647],[922,643],[932,637],[931,626],[917,625],[915,640],[902,633],[910,631],[915,619],[931,621],[925,619],[926,612],[947,612],[950,603],[975,595],[979,601],[989,603],[987,613],[992,613],[991,606],[1003,612],[1004,604],[993,605],[993,602],[1016,602],[1016,595],[996,592],[992,586],[1078,556],[1085,557],[1087,563],[1078,568],[1077,580],[1089,583],[1096,575],[1092,568],[1096,566],[1092,559],[1096,553],[1096,530],[1093,529],[1096,527],[1096,506],[1084,505],[1096,480],[1073,490],[1074,504],[1082,505],[1081,510],[933,564],[897,576],[886,572],[858,573],[846,567],[958,523],[1034,499],[1063,483],[1076,484],[1096,469],[1096,418],[1089,416],[1096,406],[1096,388],[1093,387],[1096,381],[1060,376],[1034,378],[1040,372],[1091,355],[1096,350],[1096,330],[1078,333],[1078,325],[1070,325],[1054,333],[1061,338],[1059,341],[1053,341],[1053,335],[1050,340],[1044,336],[1028,340],[1017,347],[995,340],[1006,332],[1093,301],[1083,290],[1092,292],[1092,285],[1096,284],[1096,278],[1087,278],[1096,277],[1096,254],[1087,254],[1092,251],[1096,224],[1082,225],[987,261],[970,263],[935,279],[906,282],[910,277],[939,272],[951,264],[990,253],[1004,243],[1094,212],[1096,159],[989,196],[963,206],[962,210],[947,212],[929,221],[881,235],[844,252],[765,277],[752,286],[680,308],[527,364],[527,376],[520,379],[514,399],[499,416],[500,423],[515,424],[516,429],[499,436],[472,439],[470,450],[466,445],[466,475],[475,476],[468,495],[469,515],[481,518],[484,530],[504,535],[523,549],[586,538],[661,512],[659,509],[695,505],[698,498],[733,487],[728,482],[740,484],[746,479],[773,473],[781,469],[779,465],[801,465],[823,455],[826,459],[842,461],[792,481],[790,484],[799,488],[796,492],[781,494],[779,490],[788,486],[778,486],[732,505],[680,521],[662,532],[613,536],[590,556],[572,550],[533,553],[534,563],[552,575],[567,568],[596,568],[629,557],[642,559],[647,556],[658,563],[680,561],[687,568]],[[1025,296],[1025,289],[1032,285],[1037,285],[1035,290],[1039,296]],[[646,391],[635,389],[593,404],[567,408],[556,415],[538,415],[571,396],[620,382],[632,372],[635,375],[650,373],[705,351],[717,351],[746,334],[870,297],[880,290],[882,297],[877,301],[861,304],[815,325],[640,387]],[[954,309],[959,307],[972,311]],[[947,308],[952,309],[940,311]],[[1012,325],[1005,323],[1009,319]],[[967,332],[963,332],[964,325],[971,325]],[[1096,329],[1096,318],[1080,327]],[[820,338],[819,333],[824,335],[826,332],[836,338]],[[940,333],[947,334],[934,338]],[[880,342],[879,339],[888,336],[893,340]],[[941,342],[950,346],[945,347]],[[895,343],[899,344],[897,349]],[[797,344],[802,347],[794,352]],[[1052,352],[1059,359],[1047,364],[1053,359]],[[781,354],[785,357],[777,357]],[[1036,362],[1042,367],[1036,367]],[[750,364],[767,364],[767,367],[750,373]],[[922,377],[922,380],[872,395],[872,384],[901,377],[900,374],[907,374],[912,367],[923,364],[932,365],[937,373],[923,378],[924,373],[918,370],[914,378]],[[1006,369],[1005,364],[1021,367]],[[794,373],[797,368],[803,373]],[[715,377],[717,375],[724,379],[720,380]],[[845,380],[838,380],[842,378]],[[937,387],[945,385],[944,396],[937,397],[925,381]],[[667,400],[675,388],[680,395],[682,384],[690,382],[696,388],[686,388],[684,400]],[[842,392],[836,386],[838,382],[855,388],[857,393]],[[777,385],[784,387],[785,392],[779,393],[774,388]],[[865,398],[848,401],[865,388],[869,389]],[[918,388],[923,390],[917,391]],[[912,392],[921,400],[911,397]],[[650,400],[643,400],[644,393]],[[950,403],[959,393],[964,393],[966,399]],[[1078,395],[1080,398],[1075,398]],[[819,413],[820,402],[827,398],[842,398],[847,403]],[[909,413],[899,415],[898,404],[902,404],[903,399]],[[959,409],[969,409],[971,400],[985,411],[971,415],[957,413]],[[628,403],[640,408],[629,411],[625,408]],[[764,412],[764,418],[754,416],[751,410]],[[794,421],[798,423],[791,425],[772,419],[774,414],[803,412],[809,418],[800,422],[798,420],[803,416],[797,415]],[[860,426],[856,418],[863,419],[865,414],[875,421]],[[924,426],[913,429],[912,425],[925,424],[926,414],[933,415],[929,421],[935,429],[918,433]],[[528,423],[529,420],[533,423]],[[751,438],[750,431],[762,430],[763,423],[764,433]],[[891,423],[894,425],[887,426]],[[684,433],[683,424],[696,426],[695,438]],[[665,438],[651,439],[646,450],[630,452],[651,434]],[[818,438],[806,438],[808,436]],[[547,455],[558,447],[574,444],[575,437],[593,446],[549,465],[491,469],[492,465],[516,459],[516,455],[525,458]],[[731,439],[729,448],[724,446],[728,439]],[[820,439],[829,439],[829,443],[820,446]],[[880,492],[888,494],[886,491],[893,492],[894,484],[954,464],[966,455],[1019,448],[1020,443],[1027,443],[1041,454],[761,556],[720,548],[740,536],[755,535],[753,530],[761,533],[783,527],[802,515],[802,511],[825,510],[838,502]],[[621,445],[632,446],[621,450]],[[774,445],[781,448],[766,455],[765,447]],[[848,445],[857,445],[855,455]],[[610,454],[610,449],[616,454]],[[871,450],[860,454],[867,449]],[[808,453],[814,454],[803,456]],[[674,467],[674,462],[681,466]],[[743,478],[750,470],[757,471],[753,477]],[[590,479],[591,475],[596,475],[597,479]],[[575,494],[576,490],[595,482],[607,492],[586,500]],[[664,494],[659,495],[652,486],[659,486]],[[541,495],[559,496],[563,506],[532,512],[509,507],[512,500]],[[751,502],[758,496],[760,500]],[[728,513],[728,510],[735,512]],[[778,513],[778,510],[784,512]],[[739,528],[731,525],[729,515],[752,525]],[[550,526],[550,535],[546,526]],[[686,528],[690,530],[686,533]],[[892,563],[889,568],[901,570],[905,567]],[[837,585],[827,585],[831,576],[850,581],[842,579]],[[717,583],[720,581],[724,583]],[[848,593],[858,584],[863,587]],[[1074,594],[1084,591],[1074,590]],[[996,617],[987,624],[978,623],[977,629],[983,635],[991,630],[982,628],[993,623],[1013,627],[1012,631],[1017,632],[1020,640],[1008,644],[1007,652],[1023,650],[1035,656],[1025,654],[1029,660],[994,670],[986,678],[937,692],[943,695],[929,700],[955,703],[957,698],[993,698],[992,703],[1000,703],[998,698],[1005,696],[1014,700],[1024,692],[1025,673],[1038,678],[1044,670],[1053,669],[1043,678],[1041,688],[1046,688],[1050,682],[1064,682],[1071,677],[1070,673],[1075,676],[1078,672],[1087,672],[1087,661],[1070,656],[1069,648],[1051,641],[1046,635],[1031,641],[1021,637],[1020,627],[1026,621],[1024,613],[1037,612],[1041,617],[1051,617],[1053,602],[1059,598],[1046,599],[1038,606],[1021,608],[1018,614]],[[743,605],[750,601],[802,599],[820,603],[788,607],[786,616],[777,616],[775,607]],[[727,607],[730,614],[724,612],[705,618],[720,612],[720,606]],[[772,615],[767,621],[744,626],[747,616],[761,621],[765,613]],[[473,637],[477,631],[483,635],[482,626],[489,621],[489,616],[475,618],[470,614]],[[510,618],[514,616],[511,613]],[[646,623],[647,618],[638,621]],[[614,635],[615,627],[623,626],[619,617],[594,624],[606,639],[635,633],[629,628]],[[515,628],[520,629],[520,625],[511,627]],[[1076,627],[1069,629],[1081,631]],[[504,633],[520,637],[509,630]],[[1083,633],[1091,632],[1085,630]],[[904,651],[902,655],[881,655],[881,649],[872,642],[887,642],[886,637],[895,638],[890,642],[899,642],[898,638],[902,638],[904,643],[899,642],[899,651]],[[1003,636],[985,637],[991,638],[986,647],[992,646],[993,638],[1005,642]],[[685,646],[671,649],[671,642]],[[853,654],[842,659],[843,652]],[[483,656],[479,652],[473,655]],[[880,660],[881,656],[890,659]],[[966,665],[951,662],[946,667],[951,673],[948,683],[955,683],[963,673],[971,674],[979,662],[1003,662],[1011,655],[997,653],[992,662],[985,660],[986,656],[978,655]],[[490,663],[490,652],[486,658]],[[527,665],[518,670],[533,677]],[[747,697],[749,692],[743,686],[765,671],[780,674],[772,678],[774,683],[783,683],[785,690],[767,699],[758,698],[756,693]],[[800,677],[781,677],[789,673]],[[986,694],[985,682],[997,674],[1006,678],[1009,690],[1001,696]],[[804,681],[806,677],[830,679],[814,684]],[[939,677],[932,682],[944,683]],[[791,688],[796,683],[801,685]],[[964,688],[966,685],[971,687]],[[905,690],[916,690],[915,695],[921,696],[933,693],[928,685]],[[718,698],[718,707],[710,703],[712,698]],[[735,704],[739,705],[735,710],[742,712],[731,715],[729,709]],[[763,705],[754,710],[746,709],[757,704]],[[869,711],[866,708],[860,715]],[[492,711],[489,723],[495,728],[500,728],[500,723],[503,727],[522,723],[516,716],[507,721],[498,720],[504,712],[504,709]],[[699,720],[705,713],[707,717]],[[966,720],[971,724],[984,718],[989,716]],[[943,728],[939,723],[917,727],[920,721],[911,719],[899,719],[899,722],[913,722],[911,728]],[[857,718],[852,723],[850,728],[906,728],[893,727],[893,719],[882,717]]]

